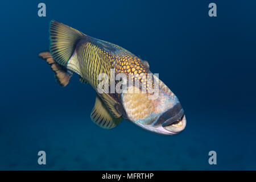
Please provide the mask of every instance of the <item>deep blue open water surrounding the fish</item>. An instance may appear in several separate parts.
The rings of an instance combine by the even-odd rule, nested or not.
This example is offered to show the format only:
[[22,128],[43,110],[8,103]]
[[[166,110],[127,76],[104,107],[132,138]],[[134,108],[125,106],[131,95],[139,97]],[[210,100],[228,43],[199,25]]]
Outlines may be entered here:
[[[38,4],[46,3],[46,17]],[[217,5],[217,17],[208,5]],[[1,1],[0,170],[255,170],[255,1]],[[38,53],[55,19],[147,60],[187,127],[158,135],[90,120],[95,91],[65,88]],[[46,151],[46,165],[38,151]],[[209,151],[217,165],[209,165]]]

